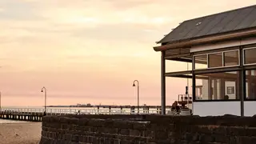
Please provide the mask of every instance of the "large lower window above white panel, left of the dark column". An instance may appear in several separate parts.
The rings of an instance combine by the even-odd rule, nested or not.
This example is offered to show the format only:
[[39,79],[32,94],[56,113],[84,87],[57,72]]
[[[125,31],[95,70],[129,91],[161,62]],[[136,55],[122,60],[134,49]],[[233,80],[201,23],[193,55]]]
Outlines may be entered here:
[[197,74],[195,78],[196,87],[202,87],[202,93],[196,93],[196,100],[239,99],[239,71]]

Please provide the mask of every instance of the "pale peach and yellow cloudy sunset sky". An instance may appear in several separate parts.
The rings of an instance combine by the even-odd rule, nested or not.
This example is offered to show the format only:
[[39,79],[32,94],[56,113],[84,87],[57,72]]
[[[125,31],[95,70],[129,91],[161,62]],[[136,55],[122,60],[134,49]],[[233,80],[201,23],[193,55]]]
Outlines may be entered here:
[[[254,0],[0,0],[2,106],[160,105],[160,53],[178,23]],[[166,72],[186,63],[166,62]],[[166,104],[186,79],[166,78]]]

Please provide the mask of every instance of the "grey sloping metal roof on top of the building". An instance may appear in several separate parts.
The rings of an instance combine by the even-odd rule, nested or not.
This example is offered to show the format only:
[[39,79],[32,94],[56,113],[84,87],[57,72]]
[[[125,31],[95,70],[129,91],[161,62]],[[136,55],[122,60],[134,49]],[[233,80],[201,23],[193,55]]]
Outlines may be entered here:
[[256,27],[256,5],[182,22],[158,43],[172,43]]

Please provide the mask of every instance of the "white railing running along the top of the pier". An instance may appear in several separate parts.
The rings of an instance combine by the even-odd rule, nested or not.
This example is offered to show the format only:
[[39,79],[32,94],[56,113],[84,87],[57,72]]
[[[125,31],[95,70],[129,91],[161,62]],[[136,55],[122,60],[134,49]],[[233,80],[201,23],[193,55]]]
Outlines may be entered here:
[[[166,110],[168,111],[168,110]],[[44,108],[10,108],[4,107],[0,109],[0,114],[34,114],[44,113]],[[102,110],[102,109],[50,109],[46,108],[46,114],[62,115],[62,114],[160,114],[161,110]]]

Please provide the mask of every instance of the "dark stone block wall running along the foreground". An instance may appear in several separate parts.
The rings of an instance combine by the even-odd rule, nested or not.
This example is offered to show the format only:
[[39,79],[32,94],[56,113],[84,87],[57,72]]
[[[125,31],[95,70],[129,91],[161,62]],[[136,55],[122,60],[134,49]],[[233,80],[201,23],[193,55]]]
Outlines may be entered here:
[[42,118],[40,144],[252,144],[256,118],[68,115]]

